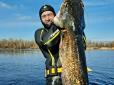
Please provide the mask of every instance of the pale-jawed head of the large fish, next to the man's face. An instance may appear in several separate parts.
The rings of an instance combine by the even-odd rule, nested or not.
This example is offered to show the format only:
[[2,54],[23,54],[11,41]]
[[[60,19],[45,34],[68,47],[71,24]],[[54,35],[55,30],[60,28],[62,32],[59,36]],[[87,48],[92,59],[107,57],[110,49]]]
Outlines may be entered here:
[[59,26],[60,28],[71,28],[74,27],[74,19],[72,16],[72,8],[70,7],[70,3],[64,2],[62,3],[59,12],[54,17],[54,24]]

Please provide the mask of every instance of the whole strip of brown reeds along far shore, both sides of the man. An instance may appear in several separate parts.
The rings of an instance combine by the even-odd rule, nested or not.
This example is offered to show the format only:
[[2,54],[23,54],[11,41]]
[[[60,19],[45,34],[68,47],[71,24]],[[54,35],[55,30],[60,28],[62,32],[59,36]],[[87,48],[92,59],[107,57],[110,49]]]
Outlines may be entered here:
[[[87,48],[101,48],[101,47],[114,47],[114,41],[87,41]],[[37,49],[34,40],[23,39],[2,39],[0,40],[0,49]]]

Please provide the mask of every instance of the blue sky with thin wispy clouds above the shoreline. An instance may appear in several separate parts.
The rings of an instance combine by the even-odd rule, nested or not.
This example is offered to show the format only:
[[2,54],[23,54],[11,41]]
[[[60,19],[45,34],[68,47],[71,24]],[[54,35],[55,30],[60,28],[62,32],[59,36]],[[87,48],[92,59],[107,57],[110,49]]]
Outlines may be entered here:
[[[63,0],[0,0],[0,39],[33,40],[42,27],[39,9],[44,4],[59,11]],[[114,41],[114,0],[83,0],[87,40]]]

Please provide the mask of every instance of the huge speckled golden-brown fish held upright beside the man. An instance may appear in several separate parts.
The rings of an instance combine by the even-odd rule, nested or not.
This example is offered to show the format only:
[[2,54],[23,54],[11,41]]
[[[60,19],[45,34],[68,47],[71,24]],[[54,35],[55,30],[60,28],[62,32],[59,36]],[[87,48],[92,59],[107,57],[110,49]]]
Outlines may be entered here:
[[88,85],[88,75],[82,35],[79,33],[81,0],[64,0],[54,23],[61,30],[60,60],[63,85]]

